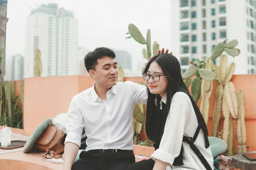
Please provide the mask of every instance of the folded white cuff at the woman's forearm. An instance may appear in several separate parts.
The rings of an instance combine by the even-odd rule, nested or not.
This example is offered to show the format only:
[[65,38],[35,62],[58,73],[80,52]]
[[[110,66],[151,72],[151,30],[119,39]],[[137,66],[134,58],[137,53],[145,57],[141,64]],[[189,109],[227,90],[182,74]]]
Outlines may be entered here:
[[169,165],[172,165],[174,162],[174,156],[168,152],[163,151],[162,149],[156,149],[150,158],[152,158],[154,161],[157,159],[162,162],[169,163]]

